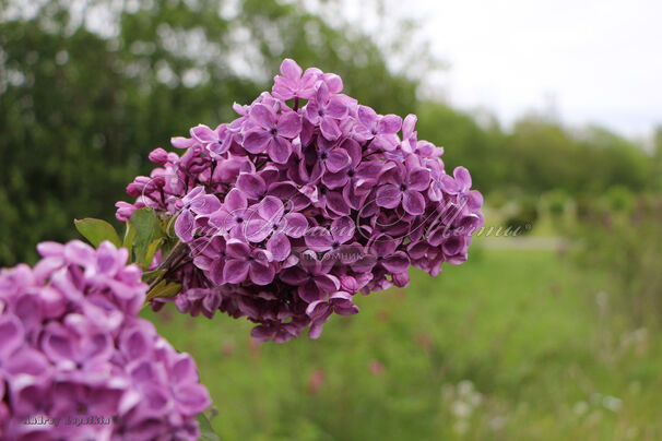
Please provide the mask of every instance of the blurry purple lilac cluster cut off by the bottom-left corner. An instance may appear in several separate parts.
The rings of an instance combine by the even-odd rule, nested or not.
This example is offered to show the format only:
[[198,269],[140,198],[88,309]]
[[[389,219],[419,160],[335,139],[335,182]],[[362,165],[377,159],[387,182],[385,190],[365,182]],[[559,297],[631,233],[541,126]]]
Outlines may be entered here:
[[110,242],[43,242],[0,272],[0,439],[198,439],[196,363],[137,317],[147,286]]

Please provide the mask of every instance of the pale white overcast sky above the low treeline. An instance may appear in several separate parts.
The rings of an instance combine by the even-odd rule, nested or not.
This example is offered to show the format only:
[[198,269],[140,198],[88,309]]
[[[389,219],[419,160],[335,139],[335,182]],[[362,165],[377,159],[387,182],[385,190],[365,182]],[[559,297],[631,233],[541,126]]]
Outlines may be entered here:
[[660,0],[410,0],[451,103],[505,122],[556,108],[629,135],[662,123]]

